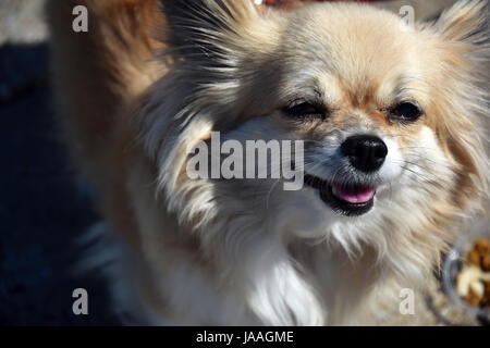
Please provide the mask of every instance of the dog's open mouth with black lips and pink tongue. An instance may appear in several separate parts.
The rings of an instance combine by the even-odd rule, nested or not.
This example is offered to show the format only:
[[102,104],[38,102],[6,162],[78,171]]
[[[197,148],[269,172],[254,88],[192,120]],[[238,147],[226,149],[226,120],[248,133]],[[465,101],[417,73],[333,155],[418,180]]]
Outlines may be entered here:
[[375,204],[373,186],[329,183],[309,174],[305,174],[305,184],[318,189],[321,200],[342,215],[363,215]]

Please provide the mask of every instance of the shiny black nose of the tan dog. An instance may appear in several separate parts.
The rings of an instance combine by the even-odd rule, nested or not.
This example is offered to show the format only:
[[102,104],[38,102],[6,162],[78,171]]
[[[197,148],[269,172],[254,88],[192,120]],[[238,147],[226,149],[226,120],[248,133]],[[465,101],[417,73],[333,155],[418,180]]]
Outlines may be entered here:
[[388,154],[387,145],[372,135],[355,135],[341,146],[342,153],[359,171],[369,173],[381,167]]

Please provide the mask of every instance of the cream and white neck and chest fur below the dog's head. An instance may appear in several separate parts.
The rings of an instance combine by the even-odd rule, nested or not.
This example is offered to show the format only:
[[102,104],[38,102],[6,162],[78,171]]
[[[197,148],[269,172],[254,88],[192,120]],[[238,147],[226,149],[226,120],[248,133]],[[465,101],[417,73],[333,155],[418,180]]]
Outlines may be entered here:
[[[216,254],[221,253],[213,253],[210,245],[196,253],[196,239],[189,237],[196,232],[180,226],[174,214],[162,213],[155,191],[147,185],[155,182],[155,171],[148,162],[137,161],[130,190],[137,192],[133,199],[145,234],[142,254],[149,258],[144,262],[150,266],[150,277],[157,279],[145,293],[151,294],[147,297],[151,298],[151,312],[159,313],[155,316],[159,323],[366,324],[376,322],[375,316],[380,314],[362,304],[372,304],[366,300],[372,296],[385,296],[385,302],[392,306],[385,311],[397,312],[399,303],[390,302],[388,297],[393,294],[387,291],[399,287],[383,286],[395,276],[369,246],[353,257],[335,241],[278,239],[284,234],[258,232],[252,224],[241,234],[260,238],[260,243],[254,238],[242,240],[233,249],[233,259],[217,259]],[[159,216],[158,221],[155,216]],[[242,226],[234,221],[215,228],[223,233]],[[160,259],[151,260],[151,256]]]

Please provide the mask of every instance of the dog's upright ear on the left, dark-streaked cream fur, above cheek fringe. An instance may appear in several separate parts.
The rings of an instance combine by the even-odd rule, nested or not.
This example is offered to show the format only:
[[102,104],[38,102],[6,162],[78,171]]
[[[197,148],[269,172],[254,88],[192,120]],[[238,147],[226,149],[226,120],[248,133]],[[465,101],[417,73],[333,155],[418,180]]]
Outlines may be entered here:
[[174,73],[181,82],[192,80],[192,98],[205,96],[205,100],[195,100],[200,109],[210,101],[221,103],[220,108],[236,103],[234,96],[243,95],[246,72],[256,71],[246,67],[254,64],[254,58],[269,53],[277,40],[278,35],[270,35],[275,33],[274,22],[265,21],[265,14],[248,0],[161,1],[168,22],[164,41],[176,63]]

